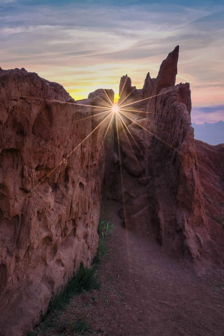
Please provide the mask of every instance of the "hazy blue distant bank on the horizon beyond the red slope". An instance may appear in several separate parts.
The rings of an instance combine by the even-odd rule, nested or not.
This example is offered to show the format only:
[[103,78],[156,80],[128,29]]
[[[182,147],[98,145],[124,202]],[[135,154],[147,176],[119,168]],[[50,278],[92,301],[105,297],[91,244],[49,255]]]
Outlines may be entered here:
[[194,128],[194,138],[210,143],[211,145],[217,145],[224,143],[224,122],[222,120],[217,123],[210,124],[192,124]]

